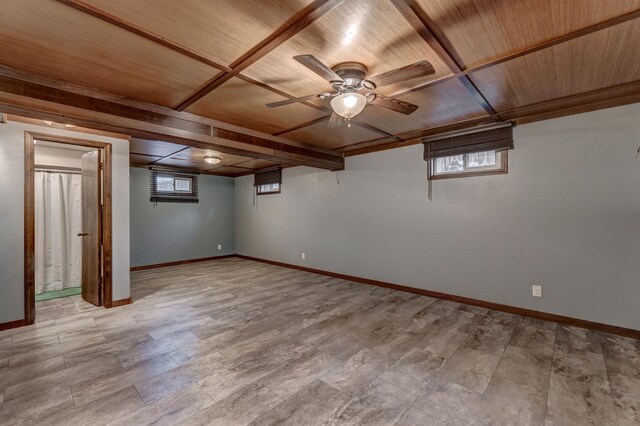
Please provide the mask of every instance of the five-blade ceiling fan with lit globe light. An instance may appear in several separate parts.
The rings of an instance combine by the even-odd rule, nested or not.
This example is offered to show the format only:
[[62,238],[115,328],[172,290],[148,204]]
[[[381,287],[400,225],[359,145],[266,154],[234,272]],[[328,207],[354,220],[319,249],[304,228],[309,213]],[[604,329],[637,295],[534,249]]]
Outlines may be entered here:
[[[276,108],[315,98],[333,98],[331,99],[333,113],[329,119],[329,127],[337,127],[342,121],[346,121],[349,127],[351,127],[351,119],[360,114],[368,103],[402,114],[408,115],[413,113],[418,109],[418,105],[374,93],[374,90],[379,87],[400,83],[417,77],[424,77],[436,72],[429,62],[420,61],[366,78],[367,67],[358,62],[343,62],[333,68],[329,68],[313,55],[298,55],[294,56],[293,59],[327,80],[331,84],[333,92],[324,92],[318,95],[308,95],[300,98],[271,102],[266,104],[266,106]],[[361,91],[366,93],[360,93]]]

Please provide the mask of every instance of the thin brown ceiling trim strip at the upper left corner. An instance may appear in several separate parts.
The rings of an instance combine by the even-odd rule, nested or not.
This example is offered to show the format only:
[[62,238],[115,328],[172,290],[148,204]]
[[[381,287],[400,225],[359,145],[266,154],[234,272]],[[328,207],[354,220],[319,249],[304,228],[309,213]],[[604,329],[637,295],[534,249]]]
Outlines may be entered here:
[[192,59],[195,59],[199,62],[202,62],[204,64],[207,64],[209,66],[212,66],[214,68],[217,68],[219,70],[223,70],[223,71],[230,71],[231,68],[219,64],[209,58],[207,58],[206,56],[203,56],[191,49],[189,49],[188,47],[182,46],[178,43],[172,42],[171,40],[167,40],[166,38],[158,35],[158,34],[154,34],[151,31],[148,31],[144,28],[141,28],[135,24],[132,24],[130,22],[125,21],[124,19],[118,18],[117,16],[113,16],[107,12],[104,12],[90,4],[84,3],[81,0],[55,0],[58,3],[64,4],[66,6],[72,7],[76,10],[79,10],[80,12],[86,13],[88,15],[91,15],[95,18],[98,18],[102,21],[108,22],[109,24],[115,25],[117,27],[120,27],[126,31],[129,31],[131,33],[137,34],[141,37],[146,38],[147,40],[151,40],[155,43],[161,44],[165,47],[168,47],[171,50],[174,50],[178,53],[181,53],[185,56],[188,56]]

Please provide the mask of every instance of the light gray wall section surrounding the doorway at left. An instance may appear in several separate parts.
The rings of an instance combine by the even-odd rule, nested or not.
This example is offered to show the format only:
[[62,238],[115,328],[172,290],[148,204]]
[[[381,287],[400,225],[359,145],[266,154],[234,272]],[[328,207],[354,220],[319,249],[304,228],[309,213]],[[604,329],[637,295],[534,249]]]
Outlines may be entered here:
[[24,318],[24,132],[109,142],[113,166],[113,300],[129,297],[129,141],[29,124],[0,124],[0,323]]

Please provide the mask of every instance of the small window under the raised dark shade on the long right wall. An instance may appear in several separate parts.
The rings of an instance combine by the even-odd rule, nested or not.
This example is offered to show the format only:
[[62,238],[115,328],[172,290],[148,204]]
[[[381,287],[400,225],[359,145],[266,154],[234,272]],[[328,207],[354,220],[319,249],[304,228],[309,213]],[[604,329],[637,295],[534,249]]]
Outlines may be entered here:
[[507,150],[473,152],[431,159],[430,179],[507,173]]

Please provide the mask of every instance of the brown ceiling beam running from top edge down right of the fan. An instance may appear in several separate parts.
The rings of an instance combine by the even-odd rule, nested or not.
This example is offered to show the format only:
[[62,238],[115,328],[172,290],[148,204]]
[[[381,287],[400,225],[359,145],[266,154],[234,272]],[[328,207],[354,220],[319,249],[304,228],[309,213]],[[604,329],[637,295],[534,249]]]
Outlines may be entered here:
[[[438,29],[434,25],[431,18],[416,4],[413,0],[391,0],[391,3],[402,14],[407,22],[413,27],[415,31],[420,34],[420,37],[431,46],[436,52],[436,55],[451,69],[454,75],[461,73],[460,59],[455,58],[455,53],[451,46],[447,47],[445,39],[439,34]],[[499,120],[496,115],[496,111],[489,104],[489,101],[473,84],[471,79],[466,75],[457,76],[464,87],[469,93],[476,99],[480,106],[489,114],[492,118]]]

